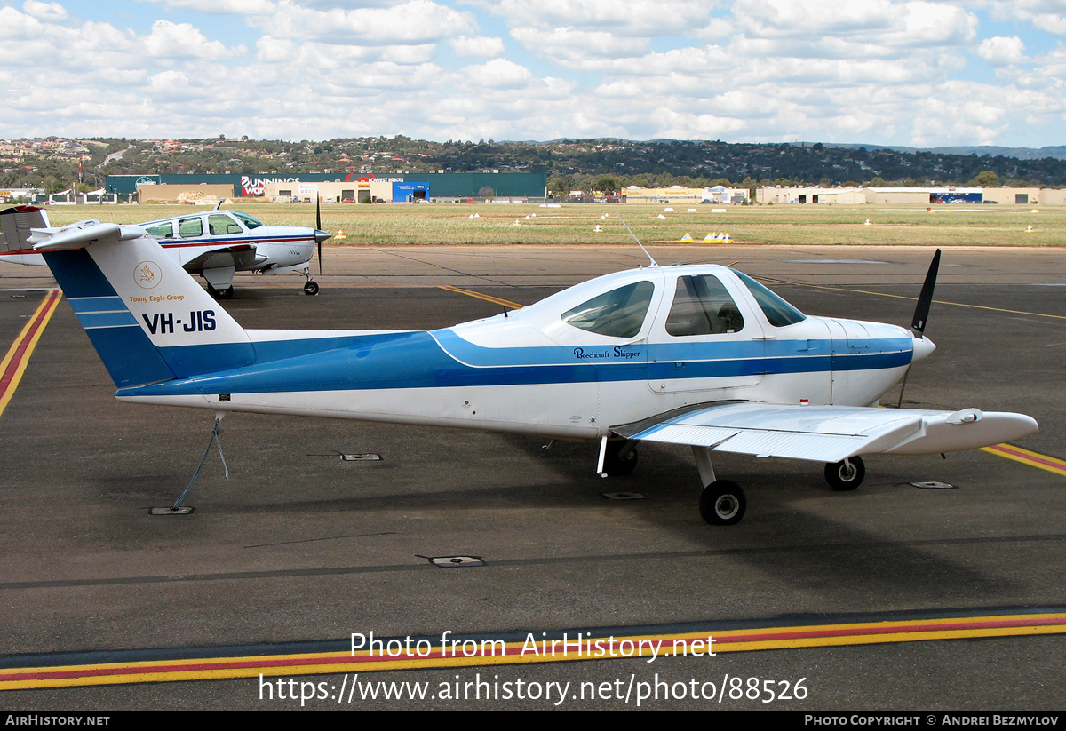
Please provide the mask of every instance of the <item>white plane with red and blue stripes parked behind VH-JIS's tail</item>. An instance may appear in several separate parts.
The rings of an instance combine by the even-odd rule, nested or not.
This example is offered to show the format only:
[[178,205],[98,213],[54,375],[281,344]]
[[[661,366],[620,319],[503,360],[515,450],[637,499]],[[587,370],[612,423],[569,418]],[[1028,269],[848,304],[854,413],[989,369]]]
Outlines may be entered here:
[[[0,211],[3,229],[0,261],[44,264],[41,255],[33,251],[34,244],[55,233],[98,223],[79,221],[51,228],[47,213],[35,206]],[[298,270],[307,278],[304,292],[318,294],[319,283],[311,279],[310,261],[318,245],[319,274],[322,274],[322,242],[329,233],[322,230],[321,211],[318,211],[316,223],[316,228],[266,226],[247,213],[223,211],[215,206],[210,212],[149,221],[140,226],[159,239],[163,250],[187,272],[204,277],[212,296],[229,299],[233,296],[236,272],[279,274]]]

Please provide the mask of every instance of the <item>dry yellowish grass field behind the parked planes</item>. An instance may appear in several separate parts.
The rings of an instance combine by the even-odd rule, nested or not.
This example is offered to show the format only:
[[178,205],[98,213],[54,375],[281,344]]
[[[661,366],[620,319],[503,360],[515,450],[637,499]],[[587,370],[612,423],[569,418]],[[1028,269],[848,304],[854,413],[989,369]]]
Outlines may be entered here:
[[[311,204],[270,204],[241,200],[238,208],[263,223],[313,226]],[[908,246],[1063,246],[1066,208],[1028,206],[729,206],[712,213],[712,206],[564,204],[540,208],[535,204],[352,205],[322,207],[322,226],[335,234],[330,244],[395,246],[419,244],[620,244],[632,241],[619,223],[620,214],[645,243],[680,241],[691,234],[728,232],[734,243],[789,245],[908,245]],[[713,207],[717,208],[717,207]],[[695,209],[695,213],[688,212]],[[115,223],[140,223],[182,215],[203,207],[79,206],[49,209],[53,225],[86,217]],[[475,215],[478,217],[470,217]],[[607,218],[600,216],[607,214]],[[660,218],[659,215],[665,217]],[[527,217],[529,216],[529,217]],[[870,221],[867,226],[866,222]],[[604,230],[594,232],[597,225]],[[1032,226],[1033,231],[1027,231]],[[346,239],[336,238],[343,230]]]

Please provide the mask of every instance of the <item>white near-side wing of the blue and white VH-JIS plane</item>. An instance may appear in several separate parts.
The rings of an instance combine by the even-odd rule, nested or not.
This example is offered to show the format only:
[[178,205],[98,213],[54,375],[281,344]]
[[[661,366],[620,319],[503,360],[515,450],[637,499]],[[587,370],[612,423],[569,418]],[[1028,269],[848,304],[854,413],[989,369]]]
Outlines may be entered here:
[[1020,413],[726,402],[615,426],[634,440],[717,452],[838,462],[860,454],[940,454],[1020,439],[1037,429]]

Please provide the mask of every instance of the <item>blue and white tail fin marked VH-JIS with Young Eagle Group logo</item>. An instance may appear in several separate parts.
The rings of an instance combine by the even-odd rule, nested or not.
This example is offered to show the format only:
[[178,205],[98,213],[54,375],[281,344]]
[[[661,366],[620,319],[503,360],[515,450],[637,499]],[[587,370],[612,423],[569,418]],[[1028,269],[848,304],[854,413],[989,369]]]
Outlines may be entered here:
[[118,388],[255,360],[244,329],[138,226],[97,224],[34,246]]

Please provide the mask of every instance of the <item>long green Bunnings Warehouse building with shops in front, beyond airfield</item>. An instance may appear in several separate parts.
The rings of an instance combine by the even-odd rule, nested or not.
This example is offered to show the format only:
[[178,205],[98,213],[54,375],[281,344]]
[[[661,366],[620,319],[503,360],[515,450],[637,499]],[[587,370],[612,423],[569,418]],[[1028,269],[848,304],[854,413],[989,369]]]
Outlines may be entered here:
[[[414,202],[415,200],[465,201],[485,198],[486,189],[499,201],[543,201],[547,196],[546,173],[353,173],[208,174],[208,175],[109,175],[108,193],[119,200],[139,196],[140,202],[174,200],[182,192],[200,186],[230,185],[232,197],[277,200]],[[158,186],[158,188],[157,188]],[[163,197],[160,197],[163,196]]]

